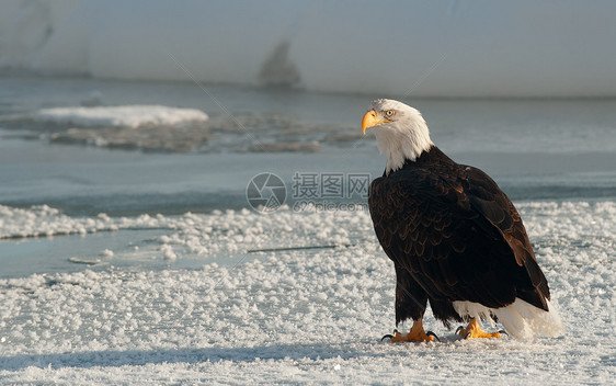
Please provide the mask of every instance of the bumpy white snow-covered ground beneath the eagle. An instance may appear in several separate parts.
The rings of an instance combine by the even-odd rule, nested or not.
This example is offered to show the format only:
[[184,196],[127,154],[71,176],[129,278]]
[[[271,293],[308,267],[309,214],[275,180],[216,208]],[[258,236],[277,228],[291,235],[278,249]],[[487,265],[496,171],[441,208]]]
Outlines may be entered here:
[[[365,212],[250,211],[113,218],[2,207],[0,234],[161,229],[141,252],[198,269],[110,265],[0,280],[0,379],[60,384],[608,384],[616,376],[616,204],[518,208],[560,338],[390,344],[393,269]],[[85,238],[92,237],[88,234]],[[253,249],[338,246],[315,250]],[[161,248],[166,247],[166,248]],[[142,250],[145,248],[145,251]]]

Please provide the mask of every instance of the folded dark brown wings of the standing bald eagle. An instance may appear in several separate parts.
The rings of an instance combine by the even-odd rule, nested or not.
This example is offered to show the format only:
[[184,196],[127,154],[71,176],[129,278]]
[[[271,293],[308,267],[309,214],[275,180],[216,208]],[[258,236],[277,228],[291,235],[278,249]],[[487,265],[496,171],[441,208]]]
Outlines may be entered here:
[[424,169],[376,179],[368,203],[379,242],[435,300],[499,308],[521,297],[547,309],[520,216],[486,178],[467,168],[450,181]]

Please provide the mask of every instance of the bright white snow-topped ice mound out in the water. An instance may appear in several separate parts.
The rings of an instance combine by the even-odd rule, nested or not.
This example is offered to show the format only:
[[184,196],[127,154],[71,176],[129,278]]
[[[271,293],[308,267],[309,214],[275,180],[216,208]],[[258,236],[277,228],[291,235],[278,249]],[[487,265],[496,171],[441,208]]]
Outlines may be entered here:
[[38,123],[77,127],[173,126],[182,123],[203,123],[207,118],[206,113],[196,109],[161,105],[54,107],[34,113],[34,120]]

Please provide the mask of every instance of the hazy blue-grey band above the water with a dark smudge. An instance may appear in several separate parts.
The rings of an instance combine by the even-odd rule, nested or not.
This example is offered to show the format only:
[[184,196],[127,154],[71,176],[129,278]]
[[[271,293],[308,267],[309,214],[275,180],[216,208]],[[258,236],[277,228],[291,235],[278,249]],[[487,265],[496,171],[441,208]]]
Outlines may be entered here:
[[0,67],[386,95],[616,93],[614,2],[390,0],[379,10],[351,0],[2,1]]

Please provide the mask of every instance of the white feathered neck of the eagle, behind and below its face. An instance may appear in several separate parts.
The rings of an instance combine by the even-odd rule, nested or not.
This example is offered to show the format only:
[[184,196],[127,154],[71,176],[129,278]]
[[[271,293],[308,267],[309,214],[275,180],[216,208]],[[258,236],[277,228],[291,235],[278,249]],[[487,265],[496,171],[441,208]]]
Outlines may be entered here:
[[414,161],[424,151],[434,146],[430,139],[430,130],[423,118],[409,123],[390,123],[387,127],[377,127],[374,133],[378,141],[378,149],[387,155],[385,174],[399,170],[407,160]]

